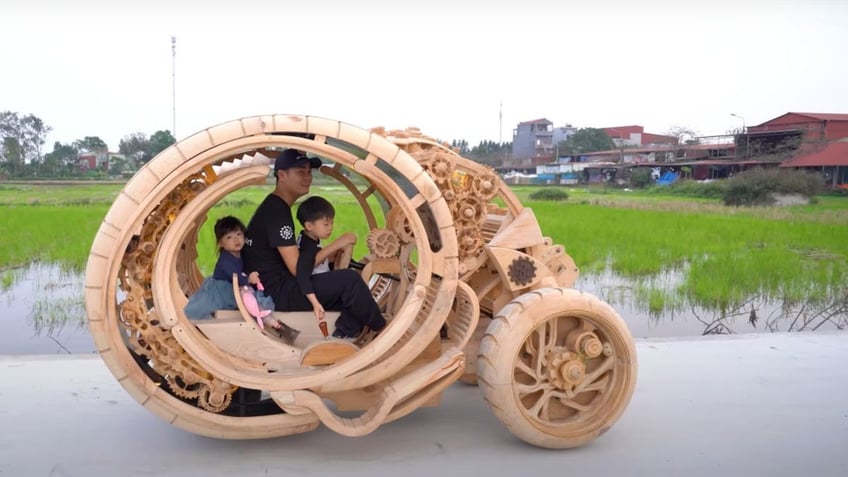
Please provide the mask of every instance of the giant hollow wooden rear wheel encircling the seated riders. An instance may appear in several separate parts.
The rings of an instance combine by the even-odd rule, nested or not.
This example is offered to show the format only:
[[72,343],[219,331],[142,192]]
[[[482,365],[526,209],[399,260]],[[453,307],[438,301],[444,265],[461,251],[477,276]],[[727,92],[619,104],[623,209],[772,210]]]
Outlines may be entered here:
[[[182,308],[202,279],[194,260],[207,213],[232,191],[270,184],[272,158],[287,147],[335,164],[338,177],[344,177],[340,168],[360,176],[364,190],[345,185],[363,207],[377,194],[403,217],[412,234],[405,253],[414,253],[418,263],[415,275],[395,292],[398,306],[390,325],[363,352],[327,366],[303,366],[301,351],[277,346],[279,362],[269,369],[263,360],[217,346]],[[374,212],[365,213],[375,227]],[[384,382],[418,357],[446,320],[457,270],[450,209],[418,162],[384,133],[311,116],[256,116],[178,142],[126,184],[92,245],[85,301],[101,357],[139,403],[199,434],[271,437],[318,425],[316,413],[298,409],[293,391],[318,409],[322,401],[312,393]],[[265,391],[291,412],[255,417],[228,412],[239,388]],[[358,432],[348,429],[357,422],[339,422],[340,432]]]

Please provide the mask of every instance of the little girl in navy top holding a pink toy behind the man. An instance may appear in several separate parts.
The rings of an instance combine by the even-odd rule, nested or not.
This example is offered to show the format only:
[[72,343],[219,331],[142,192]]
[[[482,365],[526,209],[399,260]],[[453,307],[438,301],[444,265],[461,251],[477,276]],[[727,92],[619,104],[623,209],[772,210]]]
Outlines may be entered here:
[[203,281],[197,293],[189,298],[184,309],[185,314],[189,318],[199,319],[210,317],[215,310],[237,309],[232,285],[235,273],[238,275],[245,305],[253,308],[251,312],[255,313],[257,319],[263,320],[260,326],[267,325],[280,333],[284,339],[294,341],[299,331],[289,328],[270,316],[271,310],[274,309],[274,301],[251,286],[255,285],[261,290],[259,274],[244,273],[241,260],[244,232],[244,224],[236,217],[226,216],[215,222],[215,238],[218,243],[218,261],[215,263],[215,271],[211,277]]

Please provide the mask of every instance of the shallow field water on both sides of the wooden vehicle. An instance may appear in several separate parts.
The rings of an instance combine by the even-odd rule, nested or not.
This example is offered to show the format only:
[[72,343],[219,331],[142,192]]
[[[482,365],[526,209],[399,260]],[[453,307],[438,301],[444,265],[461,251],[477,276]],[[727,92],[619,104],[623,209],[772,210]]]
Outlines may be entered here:
[[[682,272],[648,279],[650,287],[674,290]],[[84,275],[56,265],[35,264],[0,273],[0,354],[94,353],[85,320]],[[669,302],[651,311],[646,282],[610,271],[584,275],[575,287],[608,302],[633,336],[682,337],[704,334],[832,331],[848,329],[848,291],[831,303],[812,305],[749,298],[734,309],[710,310]]]

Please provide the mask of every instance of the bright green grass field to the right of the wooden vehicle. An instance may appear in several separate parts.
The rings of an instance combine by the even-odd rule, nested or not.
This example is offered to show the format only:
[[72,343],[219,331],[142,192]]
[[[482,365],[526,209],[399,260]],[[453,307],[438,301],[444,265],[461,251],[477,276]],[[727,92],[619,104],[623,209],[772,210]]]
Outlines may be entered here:
[[[594,202],[595,196],[605,200]],[[752,295],[798,303],[846,293],[843,198],[823,197],[816,206],[732,208],[648,194],[581,191],[572,197],[524,204],[583,273],[609,267],[634,280],[637,304],[645,309],[688,302],[725,310]],[[650,280],[670,270],[682,272],[676,285]]]

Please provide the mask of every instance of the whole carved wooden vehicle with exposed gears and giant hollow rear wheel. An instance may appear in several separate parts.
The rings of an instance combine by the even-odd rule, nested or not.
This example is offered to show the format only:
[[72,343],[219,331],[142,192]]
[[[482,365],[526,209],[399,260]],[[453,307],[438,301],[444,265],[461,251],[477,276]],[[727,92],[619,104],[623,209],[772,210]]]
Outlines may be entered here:
[[[269,184],[289,147],[321,157],[320,172],[368,223],[370,253],[358,262],[388,325],[356,345],[325,340],[311,312],[277,313],[302,330],[285,342],[243,307],[196,321],[182,311],[203,279],[196,244],[210,209]],[[324,424],[361,436],[437,405],[462,380],[479,384],[519,438],[565,448],[606,431],[636,382],[629,331],[572,288],[577,273],[493,170],[417,129],[273,115],[211,127],[146,164],[100,227],[85,293],[97,349],[121,385],[197,434],[264,438]]]

